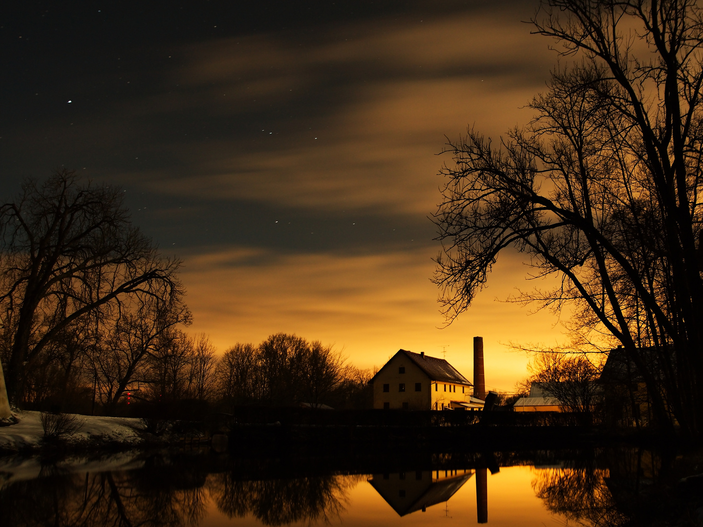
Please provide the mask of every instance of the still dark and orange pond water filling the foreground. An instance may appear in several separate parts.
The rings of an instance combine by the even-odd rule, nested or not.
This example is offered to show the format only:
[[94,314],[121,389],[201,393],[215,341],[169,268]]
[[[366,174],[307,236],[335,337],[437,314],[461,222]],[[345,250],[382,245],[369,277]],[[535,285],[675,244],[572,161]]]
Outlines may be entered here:
[[0,510],[3,526],[27,527],[619,526],[636,514],[633,507],[641,510],[643,501],[633,495],[646,498],[661,467],[656,455],[635,449],[6,460],[0,464]]

